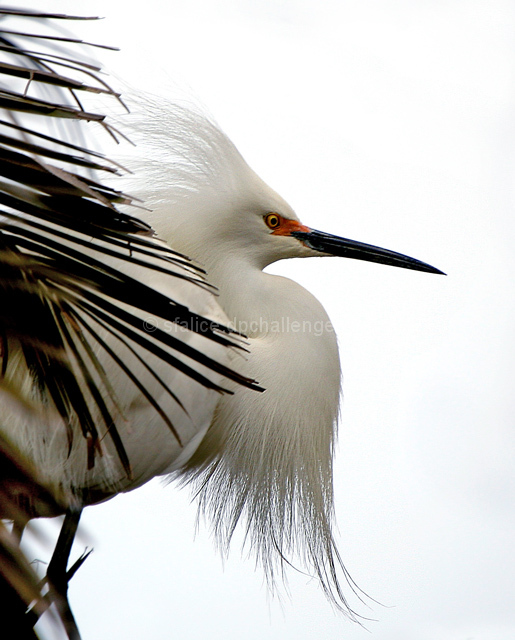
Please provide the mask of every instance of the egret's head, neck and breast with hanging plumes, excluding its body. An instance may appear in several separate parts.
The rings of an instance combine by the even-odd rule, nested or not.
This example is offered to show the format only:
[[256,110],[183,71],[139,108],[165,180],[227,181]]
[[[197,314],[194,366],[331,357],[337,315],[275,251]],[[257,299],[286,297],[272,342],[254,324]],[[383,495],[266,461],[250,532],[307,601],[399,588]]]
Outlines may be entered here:
[[[263,393],[232,383],[209,428],[176,477],[194,485],[223,544],[237,521],[269,576],[300,554],[333,602],[345,602],[331,533],[332,456],[340,394],[336,336],[303,287],[263,269],[287,258],[342,256],[442,273],[376,246],[301,223],[198,110],[144,103],[143,135],[156,140],[143,162],[145,219],[161,238],[196,258],[218,291],[227,322],[246,334],[249,354],[232,356]],[[150,117],[148,117],[150,116]],[[156,137],[154,131],[166,132]]]

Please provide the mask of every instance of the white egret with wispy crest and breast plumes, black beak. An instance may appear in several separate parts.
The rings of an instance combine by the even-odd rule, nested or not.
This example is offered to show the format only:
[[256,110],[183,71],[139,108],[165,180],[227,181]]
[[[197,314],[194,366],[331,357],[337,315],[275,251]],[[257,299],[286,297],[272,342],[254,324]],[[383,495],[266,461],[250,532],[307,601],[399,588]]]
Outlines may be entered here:
[[[107,441],[108,429],[100,433],[103,455],[89,468],[88,445],[78,424],[72,425],[76,433],[71,454],[67,430],[59,421],[47,420],[35,432],[30,422],[6,420],[13,425],[8,432],[37,461],[44,477],[54,485],[66,484],[80,506],[133,489],[156,475],[173,473],[192,482],[224,544],[244,518],[269,576],[277,561],[299,553],[337,602],[343,596],[331,532],[340,395],[336,336],[313,295],[263,269],[285,258],[332,255],[438,270],[398,253],[312,230],[207,118],[173,105],[159,109],[150,102],[145,112],[160,131],[160,150],[154,149],[153,159],[144,161],[143,177],[151,185],[145,198],[151,211],[144,217],[159,238],[205,268],[217,291],[191,282],[178,286],[172,276],[150,272],[152,285],[165,293],[170,290],[175,300],[214,322],[244,333],[244,358],[217,345],[212,355],[259,381],[265,391],[232,382],[225,384],[232,394],[220,395],[166,363],[156,363],[180,399],[178,404],[154,381],[156,401],[175,425],[175,435],[141,390],[128,384],[116,360],[99,350],[120,407],[115,424],[131,475]],[[145,135],[152,138],[151,131]],[[88,252],[94,254],[92,247]],[[138,272],[130,265],[124,270],[133,276]],[[149,329],[154,322],[147,320]],[[170,334],[185,333],[169,324]],[[116,341],[111,337],[111,342]],[[118,349],[140,380],[150,378],[134,355],[114,344],[111,348]],[[25,369],[20,367],[17,375],[25,377]]]

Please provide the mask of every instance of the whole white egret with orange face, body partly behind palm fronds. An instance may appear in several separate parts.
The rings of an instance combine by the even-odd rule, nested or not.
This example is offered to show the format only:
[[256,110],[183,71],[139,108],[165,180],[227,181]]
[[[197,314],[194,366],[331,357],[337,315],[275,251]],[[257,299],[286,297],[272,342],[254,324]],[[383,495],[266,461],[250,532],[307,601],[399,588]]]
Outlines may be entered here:
[[[138,135],[154,143],[137,167],[148,208],[141,218],[159,238],[149,239],[148,247],[158,255],[166,252],[166,244],[189,256],[215,289],[177,256],[171,275],[157,270],[155,256],[147,258],[149,268],[128,261],[128,251],[122,257],[123,247],[106,255],[106,241],[92,239],[87,231],[64,238],[67,251],[78,252],[99,278],[124,274],[119,313],[133,312],[130,292],[135,298],[147,295],[149,286],[166,296],[167,305],[151,318],[136,313],[138,335],[148,339],[141,344],[136,334],[116,326],[127,327],[128,320],[116,320],[115,310],[94,315],[110,294],[86,284],[71,299],[70,309],[77,312],[75,324],[82,324],[77,335],[87,340],[75,337],[66,350],[90,363],[89,380],[80,358],[72,369],[97,435],[84,438],[81,417],[70,414],[64,420],[55,402],[27,413],[12,397],[3,409],[3,433],[36,464],[44,483],[58,488],[78,509],[158,475],[191,483],[223,545],[243,520],[270,579],[277,564],[300,556],[328,597],[349,611],[338,578],[338,571],[346,573],[331,528],[341,384],[336,336],[311,293],[263,270],[286,258],[341,256],[441,272],[405,255],[305,226],[198,110],[149,100],[144,112],[146,124]],[[61,291],[72,289],[73,282],[61,285]],[[84,291],[91,297],[85,298]],[[177,305],[196,315],[180,315],[183,307]],[[63,318],[71,322],[66,313]],[[224,325],[245,337],[240,341],[235,335],[234,346],[227,349],[226,341],[191,331],[193,321],[213,323],[214,336],[223,335],[219,326]],[[178,339],[210,360],[195,364],[183,349],[180,362],[171,363],[158,351],[163,349],[159,340],[167,339]],[[193,362],[204,378],[192,379],[191,371],[180,370],[181,362],[188,367]],[[219,370],[213,370],[216,362],[222,365]],[[230,370],[243,377],[227,379]],[[30,373],[22,350],[12,353],[6,384],[33,406],[37,391]],[[52,513],[45,500],[24,495],[23,487],[17,490],[32,503],[33,515]]]

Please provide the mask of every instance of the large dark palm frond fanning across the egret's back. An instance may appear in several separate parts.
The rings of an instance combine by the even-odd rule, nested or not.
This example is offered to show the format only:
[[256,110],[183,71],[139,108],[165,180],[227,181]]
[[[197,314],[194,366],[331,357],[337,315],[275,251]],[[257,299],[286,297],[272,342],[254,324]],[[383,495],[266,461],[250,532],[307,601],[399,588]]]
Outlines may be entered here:
[[[221,345],[242,348],[231,329],[204,321],[141,278],[123,272],[124,262],[130,262],[131,267],[209,287],[199,268],[158,242],[147,224],[117,208],[130,203],[129,196],[93,174],[117,174],[118,165],[88,149],[81,138],[77,143],[80,129],[61,127],[50,133],[49,122],[72,121],[75,127],[92,122],[119,137],[103,114],[84,109],[79,96],[103,95],[123,104],[120,96],[101,80],[97,66],[73,50],[84,43],[47,29],[51,20],[75,18],[0,9],[0,27],[13,16],[23,17],[27,28],[0,28],[2,376],[9,379],[10,353],[21,348],[42,400],[53,403],[65,424],[72,416],[79,420],[89,443],[89,465],[94,464],[98,441],[94,416],[100,415],[130,475],[105,400],[116,403],[116,398],[94,355],[100,346],[115,358],[99,336],[99,327],[127,348],[148,350],[198,384],[224,391],[195,363],[258,387],[164,331],[157,329],[150,336],[143,330],[142,317],[153,316],[181,322]],[[118,364],[162,413],[135,374],[123,362]],[[180,405],[173,389],[167,392]],[[176,433],[172,424],[169,427]]]

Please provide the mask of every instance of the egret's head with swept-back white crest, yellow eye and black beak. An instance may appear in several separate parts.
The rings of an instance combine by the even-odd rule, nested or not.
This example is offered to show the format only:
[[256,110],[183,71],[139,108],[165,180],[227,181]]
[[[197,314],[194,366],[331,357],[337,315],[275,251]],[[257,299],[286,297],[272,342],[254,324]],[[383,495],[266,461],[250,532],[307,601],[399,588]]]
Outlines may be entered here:
[[[229,138],[203,113],[147,104],[153,141],[142,174],[145,219],[178,251],[208,272],[220,263],[263,269],[285,258],[340,256],[442,273],[395,251],[316,231],[249,167]],[[153,114],[148,118],[148,112]],[[149,125],[150,122],[150,125]],[[158,123],[156,125],[155,123]]]

